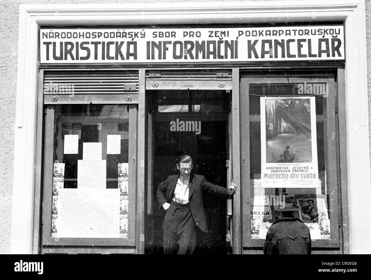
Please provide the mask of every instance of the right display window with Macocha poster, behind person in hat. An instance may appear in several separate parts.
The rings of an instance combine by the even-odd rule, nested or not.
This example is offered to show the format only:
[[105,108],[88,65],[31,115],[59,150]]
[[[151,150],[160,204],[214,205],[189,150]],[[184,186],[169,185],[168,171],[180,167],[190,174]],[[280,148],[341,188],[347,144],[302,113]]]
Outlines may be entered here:
[[267,76],[248,81],[251,240],[265,240],[281,217],[279,194],[289,192],[299,208],[295,217],[309,227],[312,240],[322,240],[314,247],[334,245],[334,80]]

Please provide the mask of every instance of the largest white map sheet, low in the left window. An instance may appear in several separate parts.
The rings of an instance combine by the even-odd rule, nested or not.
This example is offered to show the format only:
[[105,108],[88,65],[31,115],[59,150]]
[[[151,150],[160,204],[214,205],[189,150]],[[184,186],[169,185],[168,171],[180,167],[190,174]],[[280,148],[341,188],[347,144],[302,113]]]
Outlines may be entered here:
[[61,189],[58,237],[119,238],[118,189]]

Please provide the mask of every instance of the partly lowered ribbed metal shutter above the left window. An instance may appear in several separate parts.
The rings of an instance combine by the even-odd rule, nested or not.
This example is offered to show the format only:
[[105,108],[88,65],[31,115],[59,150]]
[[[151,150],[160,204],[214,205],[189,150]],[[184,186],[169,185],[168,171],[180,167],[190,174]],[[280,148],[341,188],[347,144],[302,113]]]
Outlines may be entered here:
[[135,104],[139,72],[45,71],[43,92],[45,104]]

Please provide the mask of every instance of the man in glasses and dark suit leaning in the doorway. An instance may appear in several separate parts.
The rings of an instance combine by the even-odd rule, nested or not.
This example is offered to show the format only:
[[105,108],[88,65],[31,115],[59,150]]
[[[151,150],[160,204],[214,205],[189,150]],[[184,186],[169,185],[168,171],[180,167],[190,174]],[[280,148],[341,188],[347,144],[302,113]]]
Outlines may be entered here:
[[196,248],[196,226],[207,232],[203,193],[231,199],[236,185],[226,189],[207,182],[204,176],[191,173],[188,155],[177,160],[179,175],[169,176],[157,186],[157,202],[166,212],[164,219],[164,253],[193,254]]

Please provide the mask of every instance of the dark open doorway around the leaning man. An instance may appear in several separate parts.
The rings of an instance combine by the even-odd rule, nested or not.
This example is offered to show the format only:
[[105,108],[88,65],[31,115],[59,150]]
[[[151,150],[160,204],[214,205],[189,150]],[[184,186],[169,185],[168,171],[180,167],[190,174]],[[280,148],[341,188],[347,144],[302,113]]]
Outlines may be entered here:
[[[158,90],[150,92],[154,113],[153,175],[156,186],[178,174],[176,159],[189,154],[192,172],[227,187],[228,112],[230,92],[225,90]],[[196,253],[226,254],[226,200],[203,196],[209,232],[197,230]],[[165,211],[154,203],[152,253],[163,253],[162,221]]]

